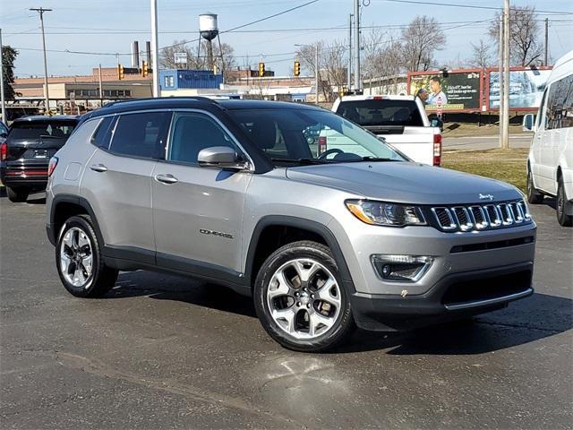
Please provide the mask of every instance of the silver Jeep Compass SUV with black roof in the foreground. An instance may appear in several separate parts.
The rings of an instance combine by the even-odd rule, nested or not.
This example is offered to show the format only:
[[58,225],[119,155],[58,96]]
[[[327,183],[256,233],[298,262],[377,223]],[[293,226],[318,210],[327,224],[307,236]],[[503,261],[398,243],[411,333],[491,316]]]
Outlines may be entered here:
[[533,292],[522,193],[411,162],[318,107],[115,103],[49,171],[47,234],[74,296],[106,294],[118,271],[188,274],[252,295],[286,348],[320,351],[355,325],[404,330]]

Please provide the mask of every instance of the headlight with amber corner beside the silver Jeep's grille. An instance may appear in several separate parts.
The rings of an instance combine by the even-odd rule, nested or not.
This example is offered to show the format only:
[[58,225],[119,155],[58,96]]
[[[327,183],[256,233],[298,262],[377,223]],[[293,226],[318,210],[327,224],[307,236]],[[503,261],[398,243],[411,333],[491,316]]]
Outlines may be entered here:
[[389,227],[425,226],[420,208],[406,204],[346,200],[346,208],[366,224]]

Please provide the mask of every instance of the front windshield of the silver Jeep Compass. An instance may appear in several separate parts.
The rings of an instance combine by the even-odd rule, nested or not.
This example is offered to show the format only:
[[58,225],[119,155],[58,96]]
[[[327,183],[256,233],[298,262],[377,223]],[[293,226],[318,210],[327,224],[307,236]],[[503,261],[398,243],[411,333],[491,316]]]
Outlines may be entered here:
[[275,163],[407,160],[372,133],[328,111],[238,109],[229,114]]

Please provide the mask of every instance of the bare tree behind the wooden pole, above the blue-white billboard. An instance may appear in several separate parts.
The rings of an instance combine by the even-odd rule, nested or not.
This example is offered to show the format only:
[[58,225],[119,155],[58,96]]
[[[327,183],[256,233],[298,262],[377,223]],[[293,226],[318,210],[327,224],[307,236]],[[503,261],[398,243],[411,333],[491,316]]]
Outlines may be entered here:
[[[490,27],[490,37],[499,43],[500,13]],[[511,65],[531,65],[541,61],[543,47],[539,40],[535,6],[512,6],[509,9],[509,61]]]

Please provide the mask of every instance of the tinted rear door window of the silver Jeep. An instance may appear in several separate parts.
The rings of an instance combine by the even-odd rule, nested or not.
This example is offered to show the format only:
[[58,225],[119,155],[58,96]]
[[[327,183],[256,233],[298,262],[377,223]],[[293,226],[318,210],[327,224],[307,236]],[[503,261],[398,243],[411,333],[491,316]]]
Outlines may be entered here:
[[168,112],[120,116],[115,125],[110,150],[133,157],[161,158],[170,118]]

